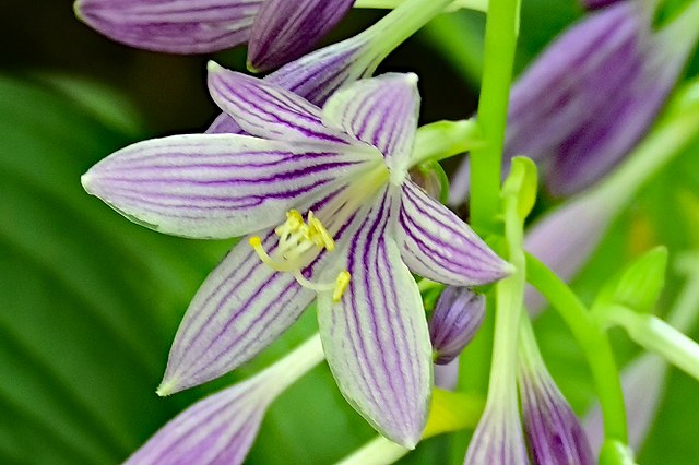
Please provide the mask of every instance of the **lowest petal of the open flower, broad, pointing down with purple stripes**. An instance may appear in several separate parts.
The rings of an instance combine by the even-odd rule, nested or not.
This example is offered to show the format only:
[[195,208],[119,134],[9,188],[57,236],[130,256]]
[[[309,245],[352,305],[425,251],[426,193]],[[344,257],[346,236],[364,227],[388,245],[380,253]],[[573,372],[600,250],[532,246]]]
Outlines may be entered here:
[[419,291],[388,234],[393,195],[384,191],[362,215],[348,245],[350,285],[339,302],[320,294],[318,321],[347,402],[388,439],[414,448],[427,419],[431,348]]

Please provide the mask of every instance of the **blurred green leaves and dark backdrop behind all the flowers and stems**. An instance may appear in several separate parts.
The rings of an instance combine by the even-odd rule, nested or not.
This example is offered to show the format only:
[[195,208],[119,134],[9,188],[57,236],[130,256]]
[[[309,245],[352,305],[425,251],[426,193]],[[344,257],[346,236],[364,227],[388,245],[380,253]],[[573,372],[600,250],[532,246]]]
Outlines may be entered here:
[[[573,0],[524,0],[518,72],[582,14]],[[354,11],[327,41],[380,15]],[[473,114],[483,20],[440,16],[382,65],[419,74],[423,122]],[[157,235],[80,186],[90,166],[131,142],[202,131],[217,115],[205,92],[206,60],[242,69],[245,50],[176,57],[130,49],[75,20],[69,0],[2,0],[0,36],[0,463],[118,463],[187,405],[265,366],[316,324],[311,309],[254,362],[158,398],[177,324],[233,241]],[[698,153],[661,174],[616,222],[577,281],[585,298],[611,269],[654,243],[699,247],[697,211],[674,202],[677,186],[699,192]],[[554,375],[583,412],[591,386],[579,349],[555,314],[537,330]],[[620,361],[629,360],[635,348],[621,334],[615,339]],[[483,344],[472,349],[474,385],[485,377],[477,350]],[[698,391],[671,370],[641,463],[697,463]],[[328,464],[375,434],[321,366],[274,404],[249,463]],[[466,439],[426,441],[404,462],[461,463]]]

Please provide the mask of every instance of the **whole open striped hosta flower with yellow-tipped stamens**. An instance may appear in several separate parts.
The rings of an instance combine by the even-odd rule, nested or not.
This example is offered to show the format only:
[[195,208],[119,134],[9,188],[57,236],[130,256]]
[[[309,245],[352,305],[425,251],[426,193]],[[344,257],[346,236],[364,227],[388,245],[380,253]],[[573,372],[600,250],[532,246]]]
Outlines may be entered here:
[[415,445],[431,347],[411,271],[473,286],[509,270],[407,176],[416,81],[414,74],[358,81],[321,110],[211,64],[212,97],[251,135],[145,141],[84,175],[88,192],[156,230],[248,235],[194,296],[161,394],[249,360],[318,296],[325,356],[344,396],[389,439]]

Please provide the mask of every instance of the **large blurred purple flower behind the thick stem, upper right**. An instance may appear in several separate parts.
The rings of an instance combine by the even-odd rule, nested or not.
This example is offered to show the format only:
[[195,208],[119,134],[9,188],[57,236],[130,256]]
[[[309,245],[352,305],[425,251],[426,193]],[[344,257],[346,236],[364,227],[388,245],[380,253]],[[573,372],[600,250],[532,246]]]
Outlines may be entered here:
[[[570,27],[512,87],[505,159],[533,158],[555,195],[603,177],[643,136],[673,88],[696,43],[687,21],[654,32],[644,2],[625,1]],[[450,203],[466,199],[469,176],[465,162]]]

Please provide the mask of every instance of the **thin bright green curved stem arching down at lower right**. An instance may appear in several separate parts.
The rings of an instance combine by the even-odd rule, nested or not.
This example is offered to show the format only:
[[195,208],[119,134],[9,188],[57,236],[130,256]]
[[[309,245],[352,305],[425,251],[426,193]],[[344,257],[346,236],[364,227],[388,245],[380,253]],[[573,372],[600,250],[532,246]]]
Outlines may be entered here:
[[602,407],[607,439],[628,442],[624,393],[612,346],[602,327],[592,319],[588,308],[572,290],[546,265],[526,255],[529,282],[558,311],[582,347]]

